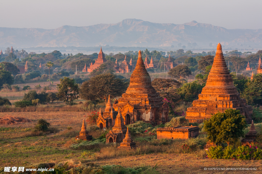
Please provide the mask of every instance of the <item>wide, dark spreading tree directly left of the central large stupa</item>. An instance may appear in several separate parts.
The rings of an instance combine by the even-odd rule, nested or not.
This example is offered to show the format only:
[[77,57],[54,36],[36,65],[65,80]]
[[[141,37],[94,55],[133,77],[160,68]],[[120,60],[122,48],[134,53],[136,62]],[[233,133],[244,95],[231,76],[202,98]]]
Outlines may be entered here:
[[83,82],[80,87],[80,97],[85,100],[102,100],[107,95],[118,97],[127,87],[128,82],[113,74],[100,74]]

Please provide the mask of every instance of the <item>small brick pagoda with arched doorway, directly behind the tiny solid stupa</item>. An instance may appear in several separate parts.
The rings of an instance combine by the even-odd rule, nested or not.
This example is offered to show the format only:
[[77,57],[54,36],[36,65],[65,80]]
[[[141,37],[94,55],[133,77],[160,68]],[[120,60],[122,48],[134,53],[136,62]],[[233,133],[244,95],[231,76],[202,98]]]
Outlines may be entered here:
[[124,119],[121,115],[121,111],[118,108],[118,114],[116,117],[116,123],[112,130],[106,134],[106,143],[120,143],[125,138],[127,133],[127,127],[124,124]]

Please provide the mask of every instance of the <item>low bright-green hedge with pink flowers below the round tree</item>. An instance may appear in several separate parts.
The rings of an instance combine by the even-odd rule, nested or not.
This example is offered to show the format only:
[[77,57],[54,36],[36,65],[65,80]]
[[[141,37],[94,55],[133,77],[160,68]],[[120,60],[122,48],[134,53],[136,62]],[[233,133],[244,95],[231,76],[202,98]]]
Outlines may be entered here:
[[241,160],[261,160],[262,149],[257,147],[256,144],[251,146],[227,146],[224,149],[222,146],[210,147],[207,151],[208,158],[212,159],[241,159]]

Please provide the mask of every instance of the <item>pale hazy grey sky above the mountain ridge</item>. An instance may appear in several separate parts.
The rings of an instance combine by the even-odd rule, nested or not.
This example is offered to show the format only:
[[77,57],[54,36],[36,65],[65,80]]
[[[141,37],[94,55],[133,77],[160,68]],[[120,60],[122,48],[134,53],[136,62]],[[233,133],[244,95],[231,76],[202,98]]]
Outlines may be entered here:
[[0,27],[54,29],[141,19],[183,24],[195,20],[227,29],[262,28],[261,0],[1,0]]

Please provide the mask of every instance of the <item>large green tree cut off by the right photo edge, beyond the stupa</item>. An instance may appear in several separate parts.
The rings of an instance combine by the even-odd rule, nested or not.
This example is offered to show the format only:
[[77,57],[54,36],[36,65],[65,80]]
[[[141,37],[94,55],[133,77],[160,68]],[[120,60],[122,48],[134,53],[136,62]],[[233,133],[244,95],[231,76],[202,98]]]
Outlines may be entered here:
[[262,74],[256,74],[253,76],[253,80],[247,82],[247,88],[244,89],[241,97],[247,100],[250,105],[262,103]]

